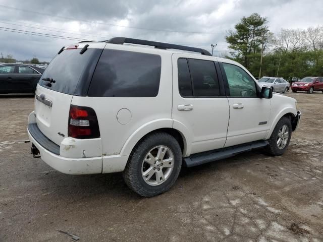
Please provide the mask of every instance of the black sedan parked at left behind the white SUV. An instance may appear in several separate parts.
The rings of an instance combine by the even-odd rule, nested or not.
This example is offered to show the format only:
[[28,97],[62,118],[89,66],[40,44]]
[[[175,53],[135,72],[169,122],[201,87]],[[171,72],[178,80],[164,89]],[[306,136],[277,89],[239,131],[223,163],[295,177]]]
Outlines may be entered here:
[[43,69],[22,64],[0,65],[0,93],[35,93]]

